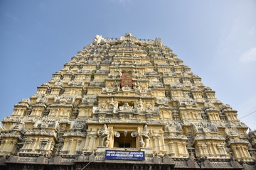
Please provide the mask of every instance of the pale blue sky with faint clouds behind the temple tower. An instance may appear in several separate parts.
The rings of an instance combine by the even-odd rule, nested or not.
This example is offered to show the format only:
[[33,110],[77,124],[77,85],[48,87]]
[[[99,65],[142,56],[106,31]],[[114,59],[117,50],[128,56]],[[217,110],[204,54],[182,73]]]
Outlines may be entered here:
[[0,120],[95,35],[127,32],[162,38],[238,118],[256,111],[256,1],[0,0],[0,22]]

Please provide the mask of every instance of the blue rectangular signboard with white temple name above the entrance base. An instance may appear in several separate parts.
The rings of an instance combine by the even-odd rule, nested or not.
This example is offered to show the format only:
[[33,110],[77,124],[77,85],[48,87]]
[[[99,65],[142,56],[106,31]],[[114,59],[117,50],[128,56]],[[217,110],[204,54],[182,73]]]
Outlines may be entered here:
[[105,151],[105,159],[127,159],[127,160],[142,161],[145,159],[145,152],[106,150]]

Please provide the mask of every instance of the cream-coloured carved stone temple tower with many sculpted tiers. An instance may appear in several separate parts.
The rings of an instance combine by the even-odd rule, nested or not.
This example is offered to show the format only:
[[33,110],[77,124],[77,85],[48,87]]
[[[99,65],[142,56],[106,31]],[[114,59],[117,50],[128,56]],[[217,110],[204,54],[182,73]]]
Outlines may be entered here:
[[0,169],[256,169],[256,132],[161,42],[96,35],[0,126]]

